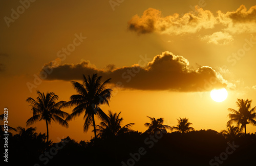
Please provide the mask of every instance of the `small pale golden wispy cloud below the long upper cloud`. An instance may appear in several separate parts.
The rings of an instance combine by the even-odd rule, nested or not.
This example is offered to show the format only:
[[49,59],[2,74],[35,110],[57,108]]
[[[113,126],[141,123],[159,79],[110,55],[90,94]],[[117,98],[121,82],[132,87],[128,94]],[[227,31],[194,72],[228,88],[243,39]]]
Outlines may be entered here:
[[211,35],[202,37],[202,40],[207,40],[209,44],[226,45],[232,42],[234,39],[232,35],[227,32],[215,32]]

